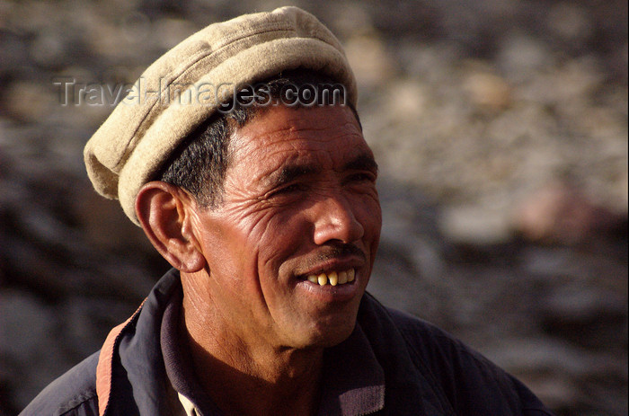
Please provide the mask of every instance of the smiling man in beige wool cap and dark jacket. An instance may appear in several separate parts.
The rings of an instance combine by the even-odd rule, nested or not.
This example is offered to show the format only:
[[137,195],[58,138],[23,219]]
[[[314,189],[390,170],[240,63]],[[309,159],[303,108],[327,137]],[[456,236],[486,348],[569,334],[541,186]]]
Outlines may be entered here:
[[173,270],[22,414],[550,414],[365,293],[377,164],[341,46],[312,15],[209,26],[136,85],[85,162]]

